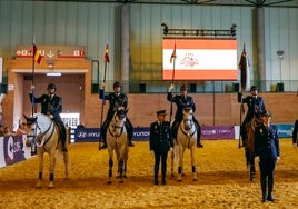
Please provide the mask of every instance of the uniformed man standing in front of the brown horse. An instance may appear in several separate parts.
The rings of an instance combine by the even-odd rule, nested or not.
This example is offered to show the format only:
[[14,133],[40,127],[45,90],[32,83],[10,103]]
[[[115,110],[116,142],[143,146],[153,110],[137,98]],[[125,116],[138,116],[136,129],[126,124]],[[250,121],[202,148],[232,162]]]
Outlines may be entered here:
[[255,155],[259,157],[262,202],[274,201],[274,176],[280,148],[277,126],[271,125],[271,112],[264,111],[262,122],[255,131]]

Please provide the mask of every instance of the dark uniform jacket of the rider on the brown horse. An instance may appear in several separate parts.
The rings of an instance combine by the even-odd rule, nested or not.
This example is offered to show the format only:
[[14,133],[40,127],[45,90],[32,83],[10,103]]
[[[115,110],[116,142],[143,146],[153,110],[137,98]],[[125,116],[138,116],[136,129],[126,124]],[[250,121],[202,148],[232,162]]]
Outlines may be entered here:
[[265,100],[261,97],[248,96],[242,99],[244,103],[247,103],[248,111],[246,115],[246,121],[250,121],[254,118],[256,111],[264,112],[266,110]]

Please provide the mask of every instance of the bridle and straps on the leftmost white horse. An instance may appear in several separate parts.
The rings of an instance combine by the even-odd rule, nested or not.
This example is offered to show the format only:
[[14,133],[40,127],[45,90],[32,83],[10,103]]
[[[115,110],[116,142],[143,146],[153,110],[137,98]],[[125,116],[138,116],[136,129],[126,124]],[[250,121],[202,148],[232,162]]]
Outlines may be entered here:
[[[38,125],[37,121],[32,122],[32,125],[33,123],[36,123],[36,128],[34,128],[34,131],[33,131],[34,133],[33,135],[28,135],[27,137],[28,138],[33,138],[33,140],[34,140],[34,142],[36,142],[36,145],[38,147],[43,147],[50,140],[50,138],[52,137],[52,135],[54,132],[54,129],[52,128],[53,127],[53,121],[51,121],[51,125],[49,126],[49,128],[44,132],[42,132],[42,130],[41,130],[41,128],[40,128],[40,126]],[[50,135],[47,138],[44,138],[44,136],[47,136],[47,133],[49,132],[50,129],[52,129],[52,131],[50,132]],[[38,130],[40,132],[39,135],[37,135]]]

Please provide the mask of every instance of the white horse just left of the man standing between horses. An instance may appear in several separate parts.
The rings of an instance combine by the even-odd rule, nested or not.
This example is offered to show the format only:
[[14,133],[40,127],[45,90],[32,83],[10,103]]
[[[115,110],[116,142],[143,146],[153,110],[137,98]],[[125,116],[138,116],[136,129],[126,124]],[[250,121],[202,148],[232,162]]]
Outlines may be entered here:
[[118,177],[119,182],[123,182],[127,177],[127,160],[128,160],[128,135],[125,126],[126,115],[128,110],[119,109],[115,112],[113,118],[107,131],[107,146],[109,152],[109,179],[108,185],[112,182],[112,166],[113,152],[118,160]]

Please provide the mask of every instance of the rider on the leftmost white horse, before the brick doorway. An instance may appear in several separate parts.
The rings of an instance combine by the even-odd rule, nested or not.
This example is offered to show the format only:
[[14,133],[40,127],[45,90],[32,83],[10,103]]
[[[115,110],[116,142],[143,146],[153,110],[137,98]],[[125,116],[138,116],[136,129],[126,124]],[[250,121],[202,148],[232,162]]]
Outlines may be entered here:
[[[62,98],[56,94],[56,86],[53,83],[49,83],[47,91],[47,94],[42,94],[39,98],[36,98],[33,96],[34,86],[31,86],[31,92],[29,93],[29,98],[32,104],[34,103],[41,103],[41,113],[48,116],[50,119],[52,119],[59,130],[60,130],[60,139],[62,141],[62,151],[67,152],[66,147],[66,140],[67,140],[67,132],[66,132],[66,126],[60,117],[60,113],[62,112]],[[32,146],[31,150],[32,155],[37,153],[36,145]]]

